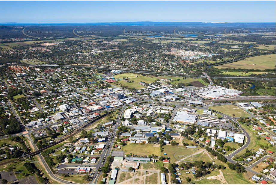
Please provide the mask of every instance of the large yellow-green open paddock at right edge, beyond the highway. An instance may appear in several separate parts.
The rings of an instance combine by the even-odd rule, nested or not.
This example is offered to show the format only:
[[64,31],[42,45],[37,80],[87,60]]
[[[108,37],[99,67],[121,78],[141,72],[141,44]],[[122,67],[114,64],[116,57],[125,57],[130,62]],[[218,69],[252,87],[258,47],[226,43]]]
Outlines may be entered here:
[[[275,68],[275,54],[260,55],[256,57],[249,57],[238,62],[227,63],[219,66],[214,66],[218,69],[232,68],[232,69],[274,69]],[[253,65],[255,64],[255,65]]]

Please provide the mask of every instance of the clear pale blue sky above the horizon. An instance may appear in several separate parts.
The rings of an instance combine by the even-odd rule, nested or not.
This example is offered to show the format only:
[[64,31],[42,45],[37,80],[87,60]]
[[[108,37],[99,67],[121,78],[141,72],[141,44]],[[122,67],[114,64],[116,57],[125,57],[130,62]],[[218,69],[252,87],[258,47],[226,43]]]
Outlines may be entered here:
[[0,1],[0,22],[275,22],[275,1]]

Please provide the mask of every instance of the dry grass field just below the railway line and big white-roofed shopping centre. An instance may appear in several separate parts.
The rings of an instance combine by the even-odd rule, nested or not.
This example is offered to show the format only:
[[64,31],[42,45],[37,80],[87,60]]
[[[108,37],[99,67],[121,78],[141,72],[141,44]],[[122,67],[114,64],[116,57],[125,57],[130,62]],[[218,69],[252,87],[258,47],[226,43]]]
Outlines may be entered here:
[[234,117],[237,118],[250,116],[249,113],[245,112],[235,105],[209,106],[209,108],[220,111],[221,113],[227,114],[229,116],[233,116],[233,114],[235,114]]

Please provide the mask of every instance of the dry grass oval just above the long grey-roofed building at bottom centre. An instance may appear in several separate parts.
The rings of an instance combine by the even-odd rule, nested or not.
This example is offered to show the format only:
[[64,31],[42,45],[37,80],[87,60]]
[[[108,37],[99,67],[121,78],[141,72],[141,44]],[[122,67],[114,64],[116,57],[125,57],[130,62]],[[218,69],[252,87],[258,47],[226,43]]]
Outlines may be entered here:
[[125,155],[131,153],[138,156],[148,156],[151,154],[157,156],[161,155],[160,147],[153,144],[128,143],[127,145],[122,147],[122,150],[125,151]]

